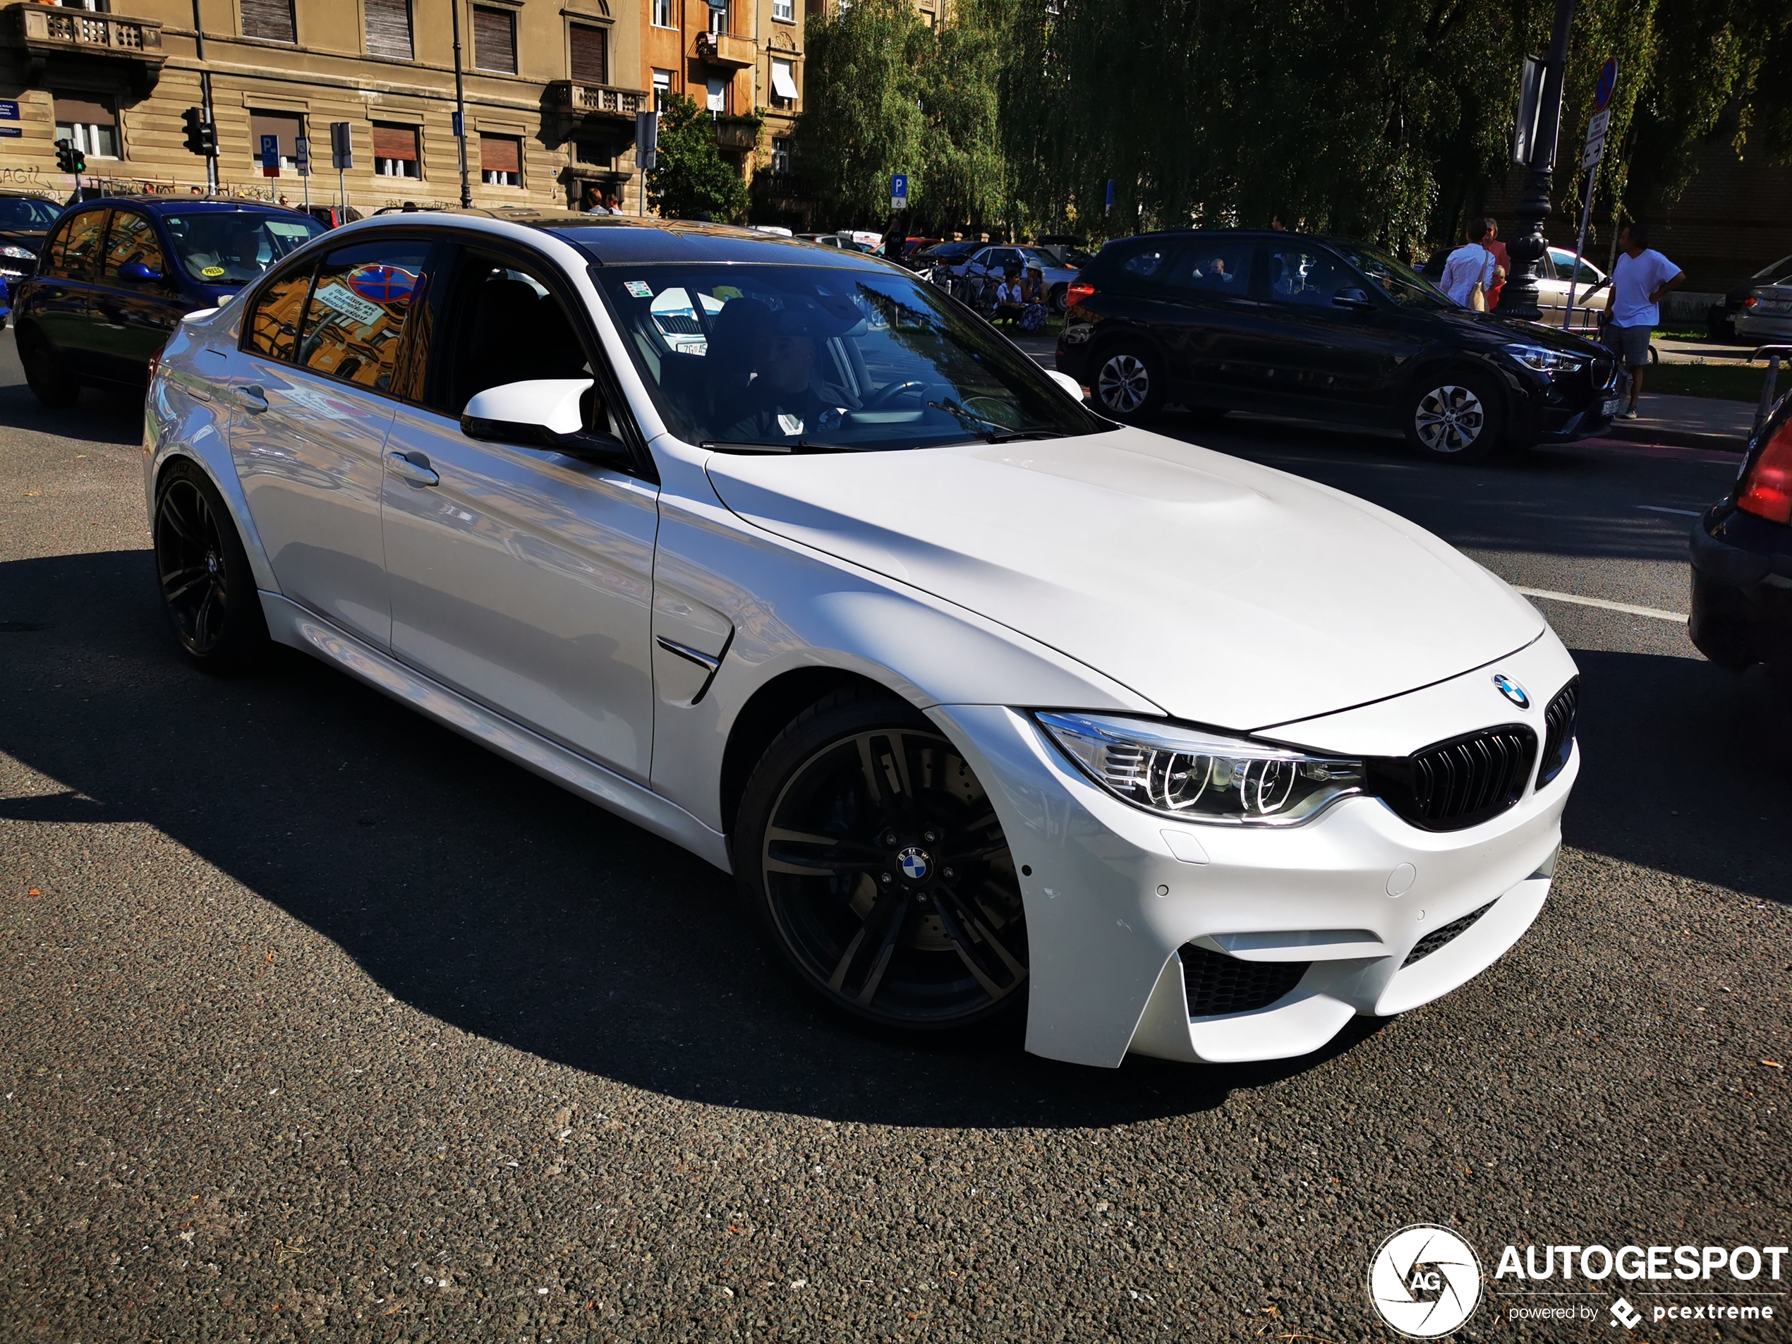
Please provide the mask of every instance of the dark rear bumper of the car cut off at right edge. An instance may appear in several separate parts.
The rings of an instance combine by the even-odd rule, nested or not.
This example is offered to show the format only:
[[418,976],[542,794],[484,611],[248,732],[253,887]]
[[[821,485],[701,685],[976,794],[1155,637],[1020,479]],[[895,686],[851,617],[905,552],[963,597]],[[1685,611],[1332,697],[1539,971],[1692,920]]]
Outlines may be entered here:
[[1727,505],[1693,523],[1686,629],[1720,667],[1792,670],[1792,527]]

